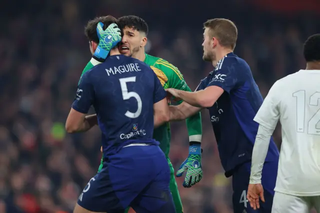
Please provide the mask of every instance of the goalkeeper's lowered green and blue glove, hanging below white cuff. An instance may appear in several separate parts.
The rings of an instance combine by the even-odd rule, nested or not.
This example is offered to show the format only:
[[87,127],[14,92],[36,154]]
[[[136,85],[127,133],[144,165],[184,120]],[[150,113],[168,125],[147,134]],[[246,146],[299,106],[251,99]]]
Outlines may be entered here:
[[189,155],[176,171],[176,176],[180,177],[186,170],[183,187],[191,187],[202,178],[200,142],[190,142]]

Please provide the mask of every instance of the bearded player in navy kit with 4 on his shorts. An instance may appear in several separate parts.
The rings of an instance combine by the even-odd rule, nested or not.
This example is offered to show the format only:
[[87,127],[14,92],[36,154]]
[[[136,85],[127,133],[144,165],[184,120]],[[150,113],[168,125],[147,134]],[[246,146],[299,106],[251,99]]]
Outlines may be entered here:
[[250,67],[233,53],[236,39],[237,28],[232,21],[215,18],[204,23],[203,60],[212,62],[214,70],[201,80],[194,92],[167,89],[183,100],[180,105],[170,106],[170,120],[185,119],[207,108],[225,176],[232,176],[234,212],[271,212],[279,158],[272,139],[262,170],[265,202],[255,211],[246,199],[258,129],[253,117],[263,98]]

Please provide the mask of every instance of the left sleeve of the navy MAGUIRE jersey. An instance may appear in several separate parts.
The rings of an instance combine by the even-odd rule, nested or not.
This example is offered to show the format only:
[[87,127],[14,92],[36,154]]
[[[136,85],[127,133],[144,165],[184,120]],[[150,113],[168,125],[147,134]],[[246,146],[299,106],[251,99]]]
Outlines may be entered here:
[[84,73],[76,90],[72,108],[81,113],[87,113],[93,103],[94,89],[90,80],[90,71]]

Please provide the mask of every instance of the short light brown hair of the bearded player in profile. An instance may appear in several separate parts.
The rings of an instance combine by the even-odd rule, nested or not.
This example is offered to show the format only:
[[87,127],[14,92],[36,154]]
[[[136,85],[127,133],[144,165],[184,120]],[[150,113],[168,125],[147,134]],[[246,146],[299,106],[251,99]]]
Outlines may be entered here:
[[209,28],[209,35],[216,37],[221,46],[234,49],[238,30],[232,21],[225,18],[214,18],[204,22],[203,26]]

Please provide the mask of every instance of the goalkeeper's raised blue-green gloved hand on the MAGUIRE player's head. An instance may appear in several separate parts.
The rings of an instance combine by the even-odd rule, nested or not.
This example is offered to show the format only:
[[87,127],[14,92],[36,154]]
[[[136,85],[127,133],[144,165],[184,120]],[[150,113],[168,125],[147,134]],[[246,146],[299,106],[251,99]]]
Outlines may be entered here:
[[103,62],[109,51],[121,41],[121,30],[116,23],[111,23],[105,30],[103,25],[102,22],[98,22],[96,26],[99,44],[93,53],[93,58],[100,62]]

